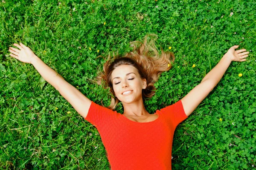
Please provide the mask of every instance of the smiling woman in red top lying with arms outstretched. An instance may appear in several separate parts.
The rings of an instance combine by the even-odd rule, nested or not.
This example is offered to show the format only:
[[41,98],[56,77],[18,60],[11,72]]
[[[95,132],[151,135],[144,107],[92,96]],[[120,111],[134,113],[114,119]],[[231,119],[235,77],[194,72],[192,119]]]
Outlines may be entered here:
[[[32,50],[22,43],[9,48],[10,56],[32,64],[44,79],[98,129],[108,153],[112,170],[170,170],[172,161],[172,139],[177,125],[186,119],[200,102],[217,85],[232,61],[245,61],[249,52],[231,47],[220,62],[204,77],[199,85],[173,105],[149,114],[143,104],[145,98],[154,94],[154,82],[169,70],[173,54],[159,57],[156,49],[140,43],[140,48],[117,57],[104,65],[99,81],[105,80],[110,91],[111,105],[97,105],[59,74],[49,68]],[[151,49],[151,50],[150,50]],[[113,111],[121,101],[124,113]]]

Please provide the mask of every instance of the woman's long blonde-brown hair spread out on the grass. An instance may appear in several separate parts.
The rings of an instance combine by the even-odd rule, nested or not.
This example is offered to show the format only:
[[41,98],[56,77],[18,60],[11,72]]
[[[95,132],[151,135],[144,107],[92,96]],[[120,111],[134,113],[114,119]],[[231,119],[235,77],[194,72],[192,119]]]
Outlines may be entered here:
[[[148,41],[148,37],[150,40]],[[118,54],[113,53],[113,57],[108,55],[108,59],[103,65],[103,72],[97,77],[97,82],[104,88],[110,88],[111,104],[107,107],[112,110],[116,108],[119,102],[117,97],[114,97],[113,85],[111,82],[111,74],[113,70],[119,65],[132,65],[137,68],[140,78],[145,78],[147,80],[147,87],[143,89],[142,96],[143,100],[151,98],[154,95],[154,83],[157,82],[160,74],[163,71],[168,71],[172,68],[172,63],[174,62],[174,54],[172,52],[163,51],[161,48],[161,54],[158,53],[155,47],[155,40],[157,40],[157,35],[149,34],[144,37],[144,42],[134,41],[130,42],[133,51],[125,54],[125,56],[120,57]]]

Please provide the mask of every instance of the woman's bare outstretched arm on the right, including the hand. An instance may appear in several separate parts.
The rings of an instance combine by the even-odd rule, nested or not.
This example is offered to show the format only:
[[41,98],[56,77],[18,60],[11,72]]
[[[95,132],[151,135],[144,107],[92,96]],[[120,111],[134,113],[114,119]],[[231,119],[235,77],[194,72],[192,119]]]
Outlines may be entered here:
[[248,57],[249,52],[246,49],[235,50],[238,47],[239,45],[231,47],[201,83],[181,99],[186,116],[189,116],[218,84],[232,61],[243,62],[246,60],[245,57]]

